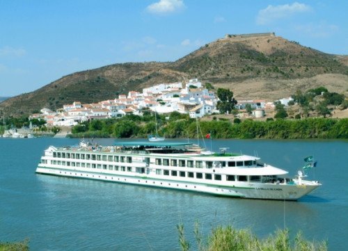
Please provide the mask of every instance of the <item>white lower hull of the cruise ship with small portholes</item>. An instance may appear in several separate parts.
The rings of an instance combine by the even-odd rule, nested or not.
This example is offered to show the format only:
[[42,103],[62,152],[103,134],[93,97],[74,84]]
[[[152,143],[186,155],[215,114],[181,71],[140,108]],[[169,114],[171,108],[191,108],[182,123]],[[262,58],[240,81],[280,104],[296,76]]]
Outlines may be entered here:
[[81,170],[81,168],[49,168],[39,164],[36,169],[38,174],[56,175],[79,179],[95,179],[121,184],[134,184],[151,186],[157,188],[171,188],[196,193],[207,193],[211,195],[240,197],[264,200],[298,200],[303,195],[313,191],[319,184],[309,185],[284,185],[284,184],[251,184],[247,182],[234,182],[222,185],[213,183],[198,183],[184,180],[159,179],[153,175],[124,175],[124,172],[111,172],[108,170]]

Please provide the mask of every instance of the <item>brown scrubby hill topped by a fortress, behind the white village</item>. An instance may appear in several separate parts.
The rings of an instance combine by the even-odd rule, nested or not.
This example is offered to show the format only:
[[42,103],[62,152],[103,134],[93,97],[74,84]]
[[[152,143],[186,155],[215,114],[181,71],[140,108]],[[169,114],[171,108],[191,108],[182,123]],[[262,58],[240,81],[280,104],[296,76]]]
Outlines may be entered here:
[[63,76],[2,102],[0,109],[27,115],[42,107],[61,108],[75,100],[98,102],[129,90],[191,78],[230,88],[237,99],[274,100],[298,88],[318,86],[345,92],[347,62],[347,56],[325,54],[274,33],[226,35],[175,62],[122,63]]

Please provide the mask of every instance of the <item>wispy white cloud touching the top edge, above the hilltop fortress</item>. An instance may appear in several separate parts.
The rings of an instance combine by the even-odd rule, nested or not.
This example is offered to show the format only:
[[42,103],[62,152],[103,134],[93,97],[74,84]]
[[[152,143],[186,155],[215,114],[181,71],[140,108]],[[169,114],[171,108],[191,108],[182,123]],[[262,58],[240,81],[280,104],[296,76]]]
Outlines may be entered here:
[[269,5],[259,11],[258,17],[256,17],[256,23],[258,25],[269,24],[277,19],[283,19],[285,17],[291,17],[296,13],[306,13],[312,8],[304,3],[294,2],[292,4],[284,4],[282,6]]

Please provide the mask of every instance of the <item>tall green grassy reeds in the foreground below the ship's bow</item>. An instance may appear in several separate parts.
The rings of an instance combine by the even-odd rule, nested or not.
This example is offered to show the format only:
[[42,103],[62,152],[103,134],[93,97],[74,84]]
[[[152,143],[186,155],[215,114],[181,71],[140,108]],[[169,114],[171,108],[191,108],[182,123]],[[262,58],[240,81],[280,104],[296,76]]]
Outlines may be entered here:
[[[302,237],[301,232],[296,234],[294,240],[289,236],[287,229],[278,229],[274,234],[265,239],[259,239],[248,229],[234,229],[231,226],[214,227],[212,232],[204,238],[200,233],[200,225],[196,223],[194,234],[196,237],[198,251],[313,251],[327,250],[327,242],[307,241]],[[184,226],[177,225],[179,232],[179,242],[182,251],[189,251],[191,244],[184,236]]]

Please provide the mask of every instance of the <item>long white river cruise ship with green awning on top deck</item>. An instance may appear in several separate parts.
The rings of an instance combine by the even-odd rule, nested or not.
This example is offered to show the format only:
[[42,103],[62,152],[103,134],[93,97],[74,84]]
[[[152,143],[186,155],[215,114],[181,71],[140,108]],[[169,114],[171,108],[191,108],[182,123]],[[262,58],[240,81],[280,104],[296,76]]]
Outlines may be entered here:
[[287,178],[287,171],[260,163],[255,156],[230,154],[226,149],[194,152],[191,145],[146,141],[50,146],[36,172],[266,200],[298,200],[321,185],[303,179],[301,171]]

